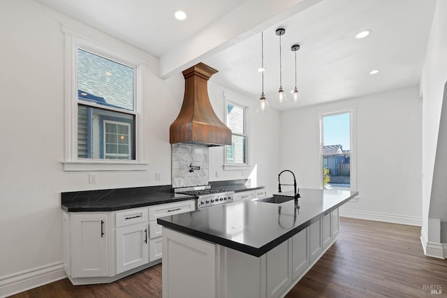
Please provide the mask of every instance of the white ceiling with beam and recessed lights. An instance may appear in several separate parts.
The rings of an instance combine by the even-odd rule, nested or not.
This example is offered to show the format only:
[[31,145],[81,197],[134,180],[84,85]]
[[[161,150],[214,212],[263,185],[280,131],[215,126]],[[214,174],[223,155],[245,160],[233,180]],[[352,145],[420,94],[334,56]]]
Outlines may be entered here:
[[[265,96],[286,110],[374,94],[419,83],[436,0],[35,0],[160,58],[160,75],[202,61],[225,87],[257,100],[261,95],[261,31]],[[180,22],[174,10],[188,14]],[[295,87],[298,104],[279,106],[279,36],[282,85]],[[364,29],[371,34],[356,40]],[[380,72],[369,75],[369,70]]]

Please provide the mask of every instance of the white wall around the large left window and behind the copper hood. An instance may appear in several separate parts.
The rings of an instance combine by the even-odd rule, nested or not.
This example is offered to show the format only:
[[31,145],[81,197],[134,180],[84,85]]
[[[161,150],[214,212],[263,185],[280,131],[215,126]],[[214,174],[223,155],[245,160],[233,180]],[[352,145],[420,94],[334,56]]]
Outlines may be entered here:
[[[63,22],[94,31],[31,0],[1,2],[0,297],[64,276],[61,192],[171,183],[169,126],[182,105],[182,74],[159,79],[156,57],[108,36],[101,36],[101,43],[147,61],[142,67],[142,114],[144,154],[149,170],[97,172],[96,184],[88,183],[88,172],[62,170]],[[96,31],[95,34],[101,35]],[[214,87],[218,94],[221,89]],[[213,98],[212,104],[222,115],[223,98]],[[278,114],[273,112],[268,117],[268,122],[256,115],[251,117],[254,148],[269,140],[265,134],[261,137],[256,133],[256,126],[267,127],[267,133],[277,129]],[[268,160],[270,154],[277,156],[275,150],[277,147],[272,145],[255,150],[254,165]],[[216,152],[214,160],[219,158],[223,161],[223,154]],[[268,175],[276,172],[274,165],[272,159],[259,166],[255,175],[258,182],[268,184]],[[219,163],[213,167],[219,171]],[[161,173],[160,181],[155,181],[155,172]],[[213,178],[240,179],[242,175],[222,172],[218,179]]]

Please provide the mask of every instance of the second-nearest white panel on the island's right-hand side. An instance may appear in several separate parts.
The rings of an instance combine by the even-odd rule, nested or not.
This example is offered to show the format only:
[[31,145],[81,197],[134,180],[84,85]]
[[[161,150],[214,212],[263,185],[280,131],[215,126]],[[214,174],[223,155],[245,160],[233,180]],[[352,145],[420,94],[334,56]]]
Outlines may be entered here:
[[309,227],[307,227],[292,237],[292,279],[298,278],[309,265]]

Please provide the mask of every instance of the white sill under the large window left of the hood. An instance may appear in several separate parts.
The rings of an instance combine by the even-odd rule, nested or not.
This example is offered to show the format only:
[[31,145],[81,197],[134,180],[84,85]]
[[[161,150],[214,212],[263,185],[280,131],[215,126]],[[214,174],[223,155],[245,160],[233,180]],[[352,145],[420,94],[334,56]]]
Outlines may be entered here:
[[136,161],[63,161],[66,172],[87,171],[146,171],[148,163]]

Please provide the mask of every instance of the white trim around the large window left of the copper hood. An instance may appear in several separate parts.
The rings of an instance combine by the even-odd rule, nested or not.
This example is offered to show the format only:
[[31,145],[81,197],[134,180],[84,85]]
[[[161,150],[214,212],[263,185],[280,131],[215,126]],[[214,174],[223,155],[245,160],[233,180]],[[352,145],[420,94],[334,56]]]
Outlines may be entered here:
[[[120,171],[120,170],[147,170],[148,164],[145,163],[142,135],[142,98],[141,65],[143,61],[133,57],[131,54],[122,54],[119,50],[109,50],[106,46],[96,44],[93,40],[105,40],[105,36],[96,33],[84,36],[75,29],[63,24],[62,31],[65,36],[65,151],[62,165],[64,171]],[[78,48],[87,50],[101,57],[117,61],[120,64],[130,66],[134,71],[134,97],[133,111],[129,114],[135,114],[135,160],[105,160],[105,159],[82,159],[78,158]],[[112,47],[110,47],[112,48]],[[113,47],[119,48],[118,45]],[[126,51],[124,51],[126,52]],[[96,103],[82,101],[82,105],[103,108]],[[110,110],[115,110],[110,108]],[[117,109],[117,112],[122,110]]]

